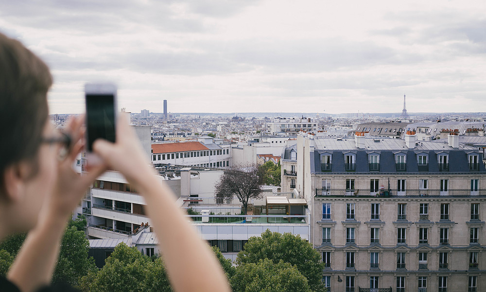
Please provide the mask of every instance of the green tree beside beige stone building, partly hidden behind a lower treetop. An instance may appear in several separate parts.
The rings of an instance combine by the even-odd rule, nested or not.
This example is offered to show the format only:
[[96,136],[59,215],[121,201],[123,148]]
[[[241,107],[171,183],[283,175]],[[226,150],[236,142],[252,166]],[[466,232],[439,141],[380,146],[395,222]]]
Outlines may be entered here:
[[258,263],[262,259],[274,262],[283,260],[295,266],[304,275],[312,291],[325,291],[322,284],[324,265],[319,252],[307,240],[291,233],[278,233],[266,230],[261,237],[251,237],[237,258],[237,265]]

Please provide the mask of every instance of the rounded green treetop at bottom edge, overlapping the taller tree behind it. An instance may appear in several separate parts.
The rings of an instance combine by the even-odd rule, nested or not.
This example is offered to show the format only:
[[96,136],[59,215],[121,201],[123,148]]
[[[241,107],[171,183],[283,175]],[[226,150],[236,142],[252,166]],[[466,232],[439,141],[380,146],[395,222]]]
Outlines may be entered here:
[[312,292],[295,266],[268,258],[238,266],[231,287],[234,292]]

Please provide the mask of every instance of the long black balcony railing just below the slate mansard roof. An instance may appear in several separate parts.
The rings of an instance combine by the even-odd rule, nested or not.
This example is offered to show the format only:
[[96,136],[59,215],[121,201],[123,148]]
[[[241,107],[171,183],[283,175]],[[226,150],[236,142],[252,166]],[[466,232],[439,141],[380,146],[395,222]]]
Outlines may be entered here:
[[380,190],[375,192],[370,189],[315,189],[315,197],[482,197],[486,196],[486,189],[471,191],[470,189],[448,189],[447,192],[440,189],[406,189],[406,190]]

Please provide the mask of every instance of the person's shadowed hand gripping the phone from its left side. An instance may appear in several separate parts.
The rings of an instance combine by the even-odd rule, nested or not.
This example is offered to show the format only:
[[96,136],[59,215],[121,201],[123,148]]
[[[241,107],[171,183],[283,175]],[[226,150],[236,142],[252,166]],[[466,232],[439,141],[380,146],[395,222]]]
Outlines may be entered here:
[[106,170],[106,165],[98,165],[80,175],[72,168],[84,147],[83,121],[84,116],[70,119],[64,128],[64,132],[71,138],[71,146],[66,158],[58,164],[57,182],[46,206],[49,209],[46,213],[57,218],[67,218],[96,177]]

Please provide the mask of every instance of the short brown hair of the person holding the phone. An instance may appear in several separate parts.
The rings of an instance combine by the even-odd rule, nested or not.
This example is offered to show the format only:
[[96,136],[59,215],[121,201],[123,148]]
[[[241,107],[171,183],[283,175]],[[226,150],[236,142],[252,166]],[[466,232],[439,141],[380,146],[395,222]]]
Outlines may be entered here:
[[19,41],[0,33],[0,194],[7,167],[32,159],[32,175],[37,172],[51,85],[47,65]]

